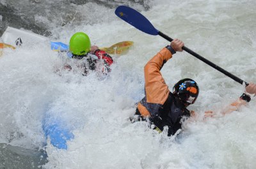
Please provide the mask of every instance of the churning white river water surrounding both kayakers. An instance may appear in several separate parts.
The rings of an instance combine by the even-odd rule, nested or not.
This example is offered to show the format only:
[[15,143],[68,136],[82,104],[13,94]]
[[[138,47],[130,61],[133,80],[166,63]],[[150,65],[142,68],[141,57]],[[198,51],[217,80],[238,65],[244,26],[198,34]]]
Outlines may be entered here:
[[[83,31],[99,47],[134,41],[127,54],[113,55],[115,64],[106,78],[97,73],[84,77],[79,71],[54,73],[63,59],[46,43],[4,50],[0,168],[255,168],[255,98],[221,117],[219,112],[244,92],[243,85],[186,52],[173,55],[161,72],[170,90],[180,78],[196,80],[200,96],[189,110],[198,112],[198,117],[170,138],[145,122],[129,122],[134,104],[143,98],[143,66],[168,41],[138,31],[114,11],[120,4],[130,5],[159,31],[179,38],[246,82],[256,82],[256,1],[95,2],[0,1],[13,17],[5,20],[8,15],[0,12],[1,27],[20,28],[23,23],[24,29],[63,43]],[[13,23],[15,16],[28,22]],[[45,141],[42,119],[47,110],[56,111],[74,128],[67,151]],[[204,120],[205,110],[218,117]]]

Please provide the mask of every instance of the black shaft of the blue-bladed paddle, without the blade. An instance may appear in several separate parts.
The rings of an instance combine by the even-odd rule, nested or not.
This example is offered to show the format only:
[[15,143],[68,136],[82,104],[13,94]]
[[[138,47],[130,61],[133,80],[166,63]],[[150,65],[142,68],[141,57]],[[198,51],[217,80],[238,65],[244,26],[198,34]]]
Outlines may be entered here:
[[[173,41],[172,38],[170,38],[169,36],[167,36],[164,33],[161,33],[160,31],[158,32],[159,36],[162,36],[164,39],[168,40],[168,41]],[[227,75],[228,77],[232,78],[233,80],[235,80],[236,82],[238,82],[239,84],[243,85],[243,82],[245,83],[245,85],[249,85],[247,82],[245,82],[244,80],[242,80],[241,78],[236,77],[235,75],[229,73],[228,71],[223,70],[223,68],[221,68],[220,66],[217,66],[216,64],[214,64],[211,61],[208,61],[207,59],[205,59],[204,57],[202,57],[199,54],[196,54],[196,52],[194,52],[193,50],[190,50],[187,47],[182,47],[183,50],[185,50],[186,52],[188,52],[189,54],[195,56],[197,59],[200,59],[201,61],[205,62],[206,64],[208,64],[209,66],[212,66],[212,68],[220,71],[221,73],[223,73],[224,75]]]

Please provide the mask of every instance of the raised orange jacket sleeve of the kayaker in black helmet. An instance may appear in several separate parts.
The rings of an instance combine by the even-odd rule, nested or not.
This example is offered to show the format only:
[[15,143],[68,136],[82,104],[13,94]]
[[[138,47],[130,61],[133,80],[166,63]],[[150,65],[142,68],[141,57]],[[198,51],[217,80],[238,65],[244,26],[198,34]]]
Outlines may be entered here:
[[168,98],[169,89],[161,75],[164,63],[172,58],[172,53],[167,48],[158,52],[144,67],[145,92],[148,103],[164,104]]

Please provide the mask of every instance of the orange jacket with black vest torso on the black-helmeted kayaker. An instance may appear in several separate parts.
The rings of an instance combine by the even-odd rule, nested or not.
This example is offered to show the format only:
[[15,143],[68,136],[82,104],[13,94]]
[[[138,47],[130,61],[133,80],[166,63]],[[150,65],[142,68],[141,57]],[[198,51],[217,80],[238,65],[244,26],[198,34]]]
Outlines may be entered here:
[[165,84],[161,75],[164,63],[172,58],[167,48],[158,52],[144,68],[145,98],[138,103],[136,114],[150,120],[157,129],[163,131],[168,126],[168,136],[181,128],[183,117],[189,117],[189,110],[179,101]]

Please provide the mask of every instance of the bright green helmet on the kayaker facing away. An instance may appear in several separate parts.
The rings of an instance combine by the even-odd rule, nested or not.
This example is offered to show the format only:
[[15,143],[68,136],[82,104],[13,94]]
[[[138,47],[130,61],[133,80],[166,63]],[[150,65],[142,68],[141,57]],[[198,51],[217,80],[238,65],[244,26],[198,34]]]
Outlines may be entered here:
[[84,55],[91,49],[91,41],[85,33],[75,33],[70,38],[69,50],[74,55]]

